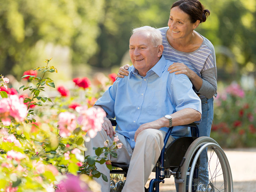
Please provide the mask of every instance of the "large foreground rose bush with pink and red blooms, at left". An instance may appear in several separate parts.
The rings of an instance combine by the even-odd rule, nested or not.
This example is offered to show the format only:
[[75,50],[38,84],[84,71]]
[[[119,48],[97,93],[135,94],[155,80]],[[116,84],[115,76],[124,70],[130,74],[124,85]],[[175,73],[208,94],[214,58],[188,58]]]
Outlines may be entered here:
[[[45,86],[55,88],[46,77],[57,73],[49,62],[24,73],[22,78],[29,82],[19,91],[7,87],[7,78],[0,78],[0,191],[69,191],[74,184],[73,192],[100,191],[92,177],[106,180],[106,176],[95,163],[111,169],[107,155],[116,157],[121,143],[115,138],[113,145],[95,149],[95,157],[84,157],[84,141],[95,136],[106,115],[91,108],[99,94],[92,93],[88,78],[81,78],[72,96],[64,94],[69,90],[63,87],[60,96],[43,94]],[[78,99],[81,91],[85,98]]]

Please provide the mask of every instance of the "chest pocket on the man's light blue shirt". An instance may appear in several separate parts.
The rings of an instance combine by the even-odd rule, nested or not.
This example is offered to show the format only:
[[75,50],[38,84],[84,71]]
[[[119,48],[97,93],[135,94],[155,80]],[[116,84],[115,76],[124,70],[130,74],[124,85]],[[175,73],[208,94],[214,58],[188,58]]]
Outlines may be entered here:
[[148,104],[148,113],[150,115],[159,115],[164,116],[166,115],[166,94],[165,91],[155,91],[149,97],[149,104]]

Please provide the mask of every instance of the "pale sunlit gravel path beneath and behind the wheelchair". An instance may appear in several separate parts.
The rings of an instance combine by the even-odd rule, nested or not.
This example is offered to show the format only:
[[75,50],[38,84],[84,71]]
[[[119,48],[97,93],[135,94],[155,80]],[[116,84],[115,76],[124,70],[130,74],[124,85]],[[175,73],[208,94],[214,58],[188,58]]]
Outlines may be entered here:
[[[256,192],[256,148],[226,149],[224,152],[231,167],[234,192]],[[176,192],[174,178],[165,179],[160,191]]]

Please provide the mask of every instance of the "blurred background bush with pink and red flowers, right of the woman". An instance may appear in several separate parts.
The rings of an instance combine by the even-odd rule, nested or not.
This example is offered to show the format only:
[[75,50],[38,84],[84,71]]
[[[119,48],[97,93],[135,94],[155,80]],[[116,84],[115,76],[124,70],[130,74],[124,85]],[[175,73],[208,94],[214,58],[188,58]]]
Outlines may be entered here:
[[255,89],[246,91],[235,82],[218,91],[211,137],[221,147],[256,146],[255,95]]

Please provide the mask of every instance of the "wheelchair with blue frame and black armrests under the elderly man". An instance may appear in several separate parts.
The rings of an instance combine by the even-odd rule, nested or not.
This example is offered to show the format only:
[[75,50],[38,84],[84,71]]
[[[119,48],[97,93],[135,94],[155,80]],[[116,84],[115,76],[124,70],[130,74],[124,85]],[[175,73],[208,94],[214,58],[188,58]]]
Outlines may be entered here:
[[[115,119],[110,119],[116,126]],[[149,183],[147,192],[159,192],[159,184],[165,178],[174,176],[179,192],[233,192],[233,180],[227,157],[218,143],[210,137],[198,137],[196,123],[183,125],[191,128],[190,137],[179,137],[166,146],[173,127],[170,127],[164,138],[164,147],[153,169],[155,178]],[[207,150],[207,151],[206,151]],[[208,154],[207,169],[200,169],[200,155]],[[121,192],[129,165],[112,163],[110,171],[110,192]],[[199,179],[199,170],[206,178]]]

